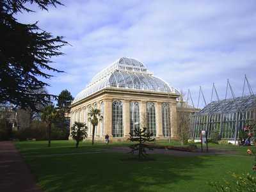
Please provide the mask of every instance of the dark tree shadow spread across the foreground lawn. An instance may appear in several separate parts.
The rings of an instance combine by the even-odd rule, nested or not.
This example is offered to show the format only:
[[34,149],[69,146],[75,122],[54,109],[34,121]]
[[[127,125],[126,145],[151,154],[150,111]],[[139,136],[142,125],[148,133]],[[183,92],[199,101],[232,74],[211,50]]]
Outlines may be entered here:
[[134,158],[102,153],[29,159],[28,163],[45,191],[172,191],[180,180],[195,179],[191,169],[204,168],[205,160],[199,157],[150,156],[157,160],[120,161]]

